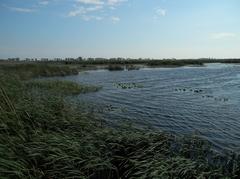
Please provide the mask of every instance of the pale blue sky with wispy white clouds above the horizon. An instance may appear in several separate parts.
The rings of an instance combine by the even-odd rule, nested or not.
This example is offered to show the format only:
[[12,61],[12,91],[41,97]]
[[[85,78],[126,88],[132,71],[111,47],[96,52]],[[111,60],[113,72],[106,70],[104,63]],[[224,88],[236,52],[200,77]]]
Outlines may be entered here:
[[239,58],[239,0],[0,0],[0,58]]

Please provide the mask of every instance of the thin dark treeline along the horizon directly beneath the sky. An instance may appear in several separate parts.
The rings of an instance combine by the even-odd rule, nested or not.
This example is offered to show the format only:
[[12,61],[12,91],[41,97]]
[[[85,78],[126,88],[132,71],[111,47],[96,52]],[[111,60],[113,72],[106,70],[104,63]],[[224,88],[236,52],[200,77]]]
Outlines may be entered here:
[[203,65],[204,63],[240,63],[240,58],[234,59],[213,59],[213,58],[199,58],[199,59],[131,59],[131,58],[8,58],[0,59],[0,61],[13,62],[49,62],[59,64],[80,64],[80,65],[129,65],[139,64],[147,66],[183,66],[183,65]]

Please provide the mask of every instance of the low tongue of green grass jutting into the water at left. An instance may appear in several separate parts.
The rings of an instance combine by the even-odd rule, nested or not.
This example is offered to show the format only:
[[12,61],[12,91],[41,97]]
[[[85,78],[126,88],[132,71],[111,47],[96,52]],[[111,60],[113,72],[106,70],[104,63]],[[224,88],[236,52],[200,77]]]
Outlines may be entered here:
[[76,95],[80,93],[96,92],[100,89],[97,86],[81,85],[72,81],[61,80],[34,80],[25,83],[29,88],[37,88],[65,95]]

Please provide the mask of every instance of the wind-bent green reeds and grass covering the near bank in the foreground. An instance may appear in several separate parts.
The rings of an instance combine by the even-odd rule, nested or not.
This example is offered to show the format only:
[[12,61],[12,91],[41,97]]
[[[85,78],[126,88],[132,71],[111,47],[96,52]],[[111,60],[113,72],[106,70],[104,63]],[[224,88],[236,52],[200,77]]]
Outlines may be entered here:
[[219,156],[196,136],[180,138],[127,124],[109,127],[65,98],[91,87],[32,81],[19,71],[23,74],[0,71],[0,178],[240,176],[237,156]]

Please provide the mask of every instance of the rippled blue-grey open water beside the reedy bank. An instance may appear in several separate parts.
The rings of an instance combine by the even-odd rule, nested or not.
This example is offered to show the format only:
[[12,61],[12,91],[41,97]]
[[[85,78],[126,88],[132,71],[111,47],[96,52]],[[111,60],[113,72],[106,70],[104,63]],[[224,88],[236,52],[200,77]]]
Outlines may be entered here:
[[[171,133],[197,133],[218,149],[240,151],[238,65],[98,70],[64,79],[102,86],[99,92],[80,98],[106,108],[103,115],[112,122],[128,119]],[[114,85],[132,82],[142,87]]]

